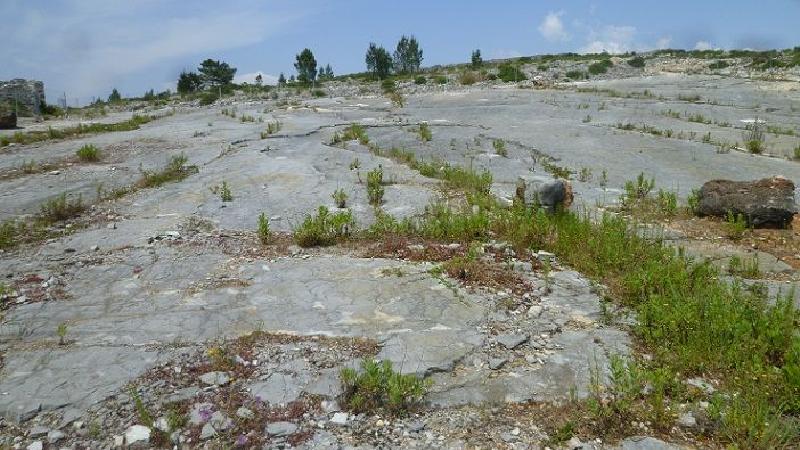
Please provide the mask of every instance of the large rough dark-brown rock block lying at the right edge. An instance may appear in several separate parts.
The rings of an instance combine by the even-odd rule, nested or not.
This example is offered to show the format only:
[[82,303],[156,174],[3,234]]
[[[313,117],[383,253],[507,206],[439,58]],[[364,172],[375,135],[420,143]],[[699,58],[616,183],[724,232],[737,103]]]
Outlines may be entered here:
[[796,212],[794,183],[773,177],[756,181],[712,180],[700,189],[699,216],[741,214],[754,227],[786,227]]

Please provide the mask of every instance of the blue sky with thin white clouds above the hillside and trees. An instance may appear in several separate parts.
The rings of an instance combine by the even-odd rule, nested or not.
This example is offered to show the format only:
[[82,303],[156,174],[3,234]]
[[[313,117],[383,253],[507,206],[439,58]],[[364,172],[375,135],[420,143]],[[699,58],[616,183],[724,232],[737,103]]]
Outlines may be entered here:
[[[12,19],[9,19],[12,18]],[[0,79],[45,82],[70,103],[174,89],[206,57],[239,80],[294,72],[304,47],[338,73],[369,42],[415,34],[424,65],[557,52],[800,45],[800,0],[0,0]]]

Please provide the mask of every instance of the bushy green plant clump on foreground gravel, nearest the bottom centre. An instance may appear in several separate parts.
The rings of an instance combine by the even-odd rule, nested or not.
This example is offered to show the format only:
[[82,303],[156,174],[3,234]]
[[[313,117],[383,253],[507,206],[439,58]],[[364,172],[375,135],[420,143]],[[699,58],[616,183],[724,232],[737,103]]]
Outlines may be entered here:
[[342,405],[357,414],[386,412],[404,416],[416,409],[428,383],[415,375],[403,375],[390,361],[363,360],[361,371],[342,369]]

